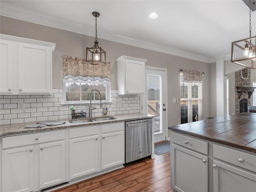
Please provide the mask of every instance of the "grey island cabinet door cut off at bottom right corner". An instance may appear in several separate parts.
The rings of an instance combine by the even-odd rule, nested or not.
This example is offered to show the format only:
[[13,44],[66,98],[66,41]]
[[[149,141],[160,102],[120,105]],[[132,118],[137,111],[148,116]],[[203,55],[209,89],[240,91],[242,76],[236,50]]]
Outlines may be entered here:
[[214,192],[255,192],[256,174],[213,161]]

